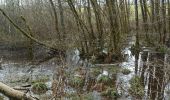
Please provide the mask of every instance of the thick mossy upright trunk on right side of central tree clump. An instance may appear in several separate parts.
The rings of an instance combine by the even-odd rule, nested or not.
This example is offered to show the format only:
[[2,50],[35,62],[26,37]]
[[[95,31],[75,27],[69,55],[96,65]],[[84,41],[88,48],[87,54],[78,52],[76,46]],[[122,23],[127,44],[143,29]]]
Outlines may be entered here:
[[[119,28],[121,26],[119,26],[119,18],[120,16],[118,16],[118,11],[117,10],[117,7],[116,7],[116,3],[115,1],[113,0],[107,0],[106,1],[106,5],[107,5],[107,9],[108,9],[108,17],[109,17],[109,25],[110,25],[110,47],[113,46],[113,48],[110,48],[109,52],[110,51],[114,51],[114,53],[117,55],[117,56],[120,56],[121,55],[121,52],[120,52],[120,48],[119,48],[119,42],[120,42],[120,31],[119,31]],[[120,22],[121,23],[121,22]]]

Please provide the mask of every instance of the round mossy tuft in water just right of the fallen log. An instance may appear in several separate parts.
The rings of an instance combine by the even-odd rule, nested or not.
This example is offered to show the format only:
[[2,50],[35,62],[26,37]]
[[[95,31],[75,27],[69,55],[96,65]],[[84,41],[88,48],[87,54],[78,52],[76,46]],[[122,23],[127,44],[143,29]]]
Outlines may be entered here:
[[46,93],[47,89],[47,85],[43,82],[38,82],[38,83],[34,83],[32,88],[31,88],[32,92],[35,94],[43,94]]

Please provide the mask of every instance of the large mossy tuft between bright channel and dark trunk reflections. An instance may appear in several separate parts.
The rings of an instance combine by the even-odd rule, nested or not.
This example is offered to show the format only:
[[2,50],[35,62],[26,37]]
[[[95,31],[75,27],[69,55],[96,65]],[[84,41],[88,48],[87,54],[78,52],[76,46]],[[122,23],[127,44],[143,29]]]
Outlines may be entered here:
[[129,92],[137,98],[142,98],[144,95],[144,87],[142,85],[142,81],[139,76],[135,76],[130,80],[131,87],[129,88]]

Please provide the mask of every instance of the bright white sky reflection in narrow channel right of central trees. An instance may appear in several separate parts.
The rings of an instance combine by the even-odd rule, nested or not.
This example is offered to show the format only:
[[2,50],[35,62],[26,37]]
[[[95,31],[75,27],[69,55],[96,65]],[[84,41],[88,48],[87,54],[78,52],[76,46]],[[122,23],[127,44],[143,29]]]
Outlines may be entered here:
[[[127,47],[122,51],[124,55],[127,56],[127,61],[122,62],[120,66],[122,68],[127,68],[131,71],[130,74],[124,75],[122,73],[118,73],[117,75],[117,84],[120,84],[121,87],[118,89],[119,92],[123,92],[122,98],[119,100],[132,100],[131,96],[128,96],[128,89],[130,87],[129,80],[134,76],[135,72],[135,57],[132,55],[130,48],[135,44],[134,37],[131,38],[130,42],[128,42]],[[122,91],[121,88],[124,90]]]

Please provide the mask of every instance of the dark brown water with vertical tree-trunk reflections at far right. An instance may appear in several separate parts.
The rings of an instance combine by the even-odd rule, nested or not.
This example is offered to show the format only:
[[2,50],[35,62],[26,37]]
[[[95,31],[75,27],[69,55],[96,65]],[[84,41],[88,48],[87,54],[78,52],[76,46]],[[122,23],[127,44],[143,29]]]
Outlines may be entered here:
[[167,83],[165,54],[143,52],[142,60],[144,63],[141,70],[141,79],[143,85],[147,87],[147,98],[163,100]]

